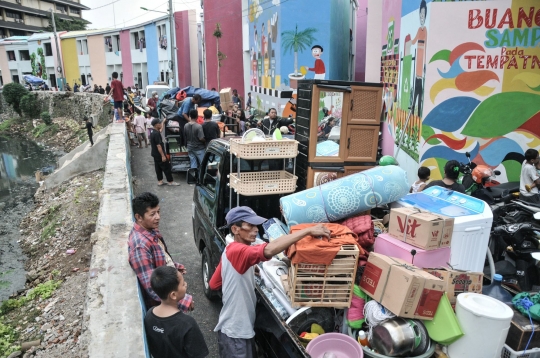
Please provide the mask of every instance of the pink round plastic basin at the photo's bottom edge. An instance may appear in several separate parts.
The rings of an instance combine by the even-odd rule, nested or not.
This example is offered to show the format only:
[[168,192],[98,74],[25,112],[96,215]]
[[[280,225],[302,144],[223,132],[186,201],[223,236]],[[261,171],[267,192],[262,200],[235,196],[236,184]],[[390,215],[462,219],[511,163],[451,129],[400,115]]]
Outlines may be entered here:
[[334,353],[336,358],[363,358],[364,352],[358,342],[341,333],[325,333],[313,339],[306,347],[312,358],[323,358]]

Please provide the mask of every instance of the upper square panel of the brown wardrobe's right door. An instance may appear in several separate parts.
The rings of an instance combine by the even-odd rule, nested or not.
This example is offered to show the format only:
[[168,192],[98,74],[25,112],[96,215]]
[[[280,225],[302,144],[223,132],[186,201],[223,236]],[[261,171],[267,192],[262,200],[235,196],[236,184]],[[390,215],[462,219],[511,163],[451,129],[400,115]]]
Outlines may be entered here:
[[351,86],[349,124],[378,126],[381,122],[382,88]]

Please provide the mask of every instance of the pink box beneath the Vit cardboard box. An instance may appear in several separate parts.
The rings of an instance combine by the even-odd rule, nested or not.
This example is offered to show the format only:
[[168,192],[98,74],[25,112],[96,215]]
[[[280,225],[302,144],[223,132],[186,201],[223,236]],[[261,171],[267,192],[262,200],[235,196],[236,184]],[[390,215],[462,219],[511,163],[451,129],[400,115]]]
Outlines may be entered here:
[[[414,256],[411,254],[413,250],[416,251]],[[398,239],[394,239],[389,234],[380,234],[377,236],[373,251],[378,254],[397,257],[419,268],[447,267],[450,262],[449,247],[422,250]]]

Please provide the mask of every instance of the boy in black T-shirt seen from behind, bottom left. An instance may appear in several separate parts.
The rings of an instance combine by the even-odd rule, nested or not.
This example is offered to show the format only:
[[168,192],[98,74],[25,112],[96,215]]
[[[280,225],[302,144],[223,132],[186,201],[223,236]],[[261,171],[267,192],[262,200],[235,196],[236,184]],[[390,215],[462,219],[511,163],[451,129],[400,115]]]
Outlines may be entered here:
[[160,358],[208,356],[197,322],[177,306],[187,289],[182,274],[175,267],[160,266],[152,272],[150,285],[161,299],[161,304],[150,308],[144,318],[150,354]]

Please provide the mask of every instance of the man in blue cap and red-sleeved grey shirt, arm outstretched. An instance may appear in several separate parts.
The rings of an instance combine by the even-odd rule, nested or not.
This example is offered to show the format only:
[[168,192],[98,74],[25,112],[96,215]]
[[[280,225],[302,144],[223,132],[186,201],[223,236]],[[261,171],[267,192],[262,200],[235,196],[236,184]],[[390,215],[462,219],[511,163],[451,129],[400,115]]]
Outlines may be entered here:
[[210,288],[223,293],[223,308],[214,329],[218,334],[221,358],[255,358],[255,268],[268,261],[305,236],[330,238],[330,230],[323,225],[306,228],[285,235],[268,244],[251,246],[255,242],[257,226],[266,221],[247,206],[238,206],[227,213],[227,225],[234,242],[225,247]]

